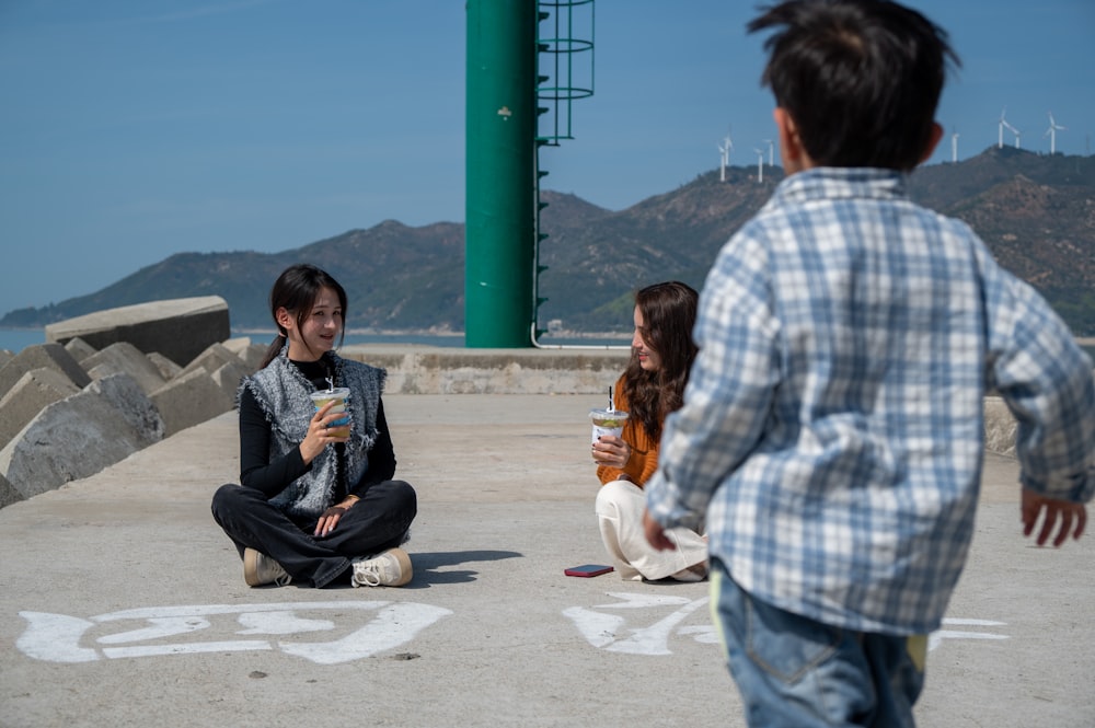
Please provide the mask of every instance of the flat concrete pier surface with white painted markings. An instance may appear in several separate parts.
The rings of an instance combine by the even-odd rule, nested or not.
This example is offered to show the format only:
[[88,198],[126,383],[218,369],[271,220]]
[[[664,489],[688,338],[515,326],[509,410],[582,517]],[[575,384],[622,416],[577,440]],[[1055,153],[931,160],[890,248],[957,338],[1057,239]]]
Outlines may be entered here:
[[[563,575],[606,561],[602,401],[387,396],[419,498],[401,589],[244,585],[209,513],[231,412],[0,510],[0,726],[744,726],[706,582]],[[921,726],[1095,726],[1095,535],[1024,540],[1016,477],[989,455]]]

